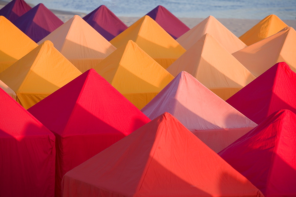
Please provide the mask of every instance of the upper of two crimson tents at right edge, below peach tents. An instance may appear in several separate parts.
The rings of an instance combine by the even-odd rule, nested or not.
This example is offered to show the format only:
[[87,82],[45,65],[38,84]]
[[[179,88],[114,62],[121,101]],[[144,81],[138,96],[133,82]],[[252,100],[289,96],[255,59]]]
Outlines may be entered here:
[[277,63],[226,100],[257,124],[280,109],[296,113],[296,73]]

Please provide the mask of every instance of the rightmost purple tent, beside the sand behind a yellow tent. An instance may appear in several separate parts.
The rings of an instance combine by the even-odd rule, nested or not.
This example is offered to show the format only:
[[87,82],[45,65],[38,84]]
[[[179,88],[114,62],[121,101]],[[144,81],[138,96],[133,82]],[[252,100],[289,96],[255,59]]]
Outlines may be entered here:
[[157,6],[146,15],[155,20],[174,39],[177,39],[189,30],[186,24],[163,6]]

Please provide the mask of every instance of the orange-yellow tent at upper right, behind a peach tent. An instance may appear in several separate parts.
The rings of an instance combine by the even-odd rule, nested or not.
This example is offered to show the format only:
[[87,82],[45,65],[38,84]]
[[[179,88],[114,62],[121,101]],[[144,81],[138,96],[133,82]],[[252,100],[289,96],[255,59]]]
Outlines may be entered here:
[[279,17],[271,14],[244,33],[241,37],[239,37],[239,39],[249,46],[255,42],[276,34],[287,26],[288,25],[279,19]]

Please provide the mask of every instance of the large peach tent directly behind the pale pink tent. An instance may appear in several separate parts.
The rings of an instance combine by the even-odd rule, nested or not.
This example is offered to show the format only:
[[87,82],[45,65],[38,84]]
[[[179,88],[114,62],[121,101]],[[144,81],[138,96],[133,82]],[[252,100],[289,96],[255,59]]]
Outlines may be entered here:
[[186,71],[223,100],[255,79],[213,36],[205,34],[170,67],[173,76]]

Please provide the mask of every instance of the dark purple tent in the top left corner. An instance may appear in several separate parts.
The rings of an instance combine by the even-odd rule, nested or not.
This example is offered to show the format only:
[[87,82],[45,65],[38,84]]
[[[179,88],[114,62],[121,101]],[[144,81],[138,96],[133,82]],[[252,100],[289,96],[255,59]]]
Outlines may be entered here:
[[12,0],[0,9],[0,16],[4,16],[13,22],[28,12],[31,8],[24,0]]

